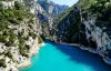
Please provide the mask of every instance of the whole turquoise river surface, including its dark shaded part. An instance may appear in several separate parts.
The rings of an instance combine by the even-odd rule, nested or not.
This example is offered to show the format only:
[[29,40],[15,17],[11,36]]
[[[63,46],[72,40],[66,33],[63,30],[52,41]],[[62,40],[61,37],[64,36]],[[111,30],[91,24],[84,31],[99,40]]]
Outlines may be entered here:
[[53,44],[50,41],[32,57],[32,64],[20,71],[111,71],[111,67],[93,53],[78,47]]

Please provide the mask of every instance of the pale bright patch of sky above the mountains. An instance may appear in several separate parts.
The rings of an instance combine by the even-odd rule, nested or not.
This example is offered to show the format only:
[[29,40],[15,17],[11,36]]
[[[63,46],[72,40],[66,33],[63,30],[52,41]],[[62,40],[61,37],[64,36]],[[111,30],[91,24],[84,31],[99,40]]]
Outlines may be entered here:
[[78,2],[78,0],[51,0],[58,4],[67,4],[67,6],[73,6],[74,3]]

